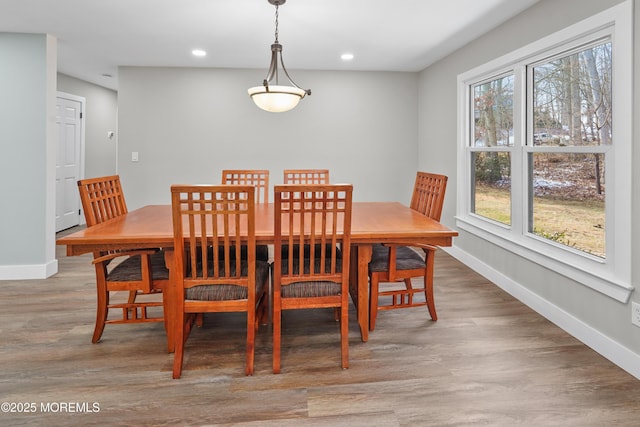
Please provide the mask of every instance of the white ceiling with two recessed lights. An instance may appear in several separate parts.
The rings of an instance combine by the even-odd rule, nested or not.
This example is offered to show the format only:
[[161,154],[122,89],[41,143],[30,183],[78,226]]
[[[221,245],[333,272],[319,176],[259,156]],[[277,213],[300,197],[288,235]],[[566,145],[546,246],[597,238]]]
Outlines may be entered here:
[[[420,71],[537,1],[289,0],[278,38],[290,71]],[[117,90],[118,66],[266,75],[275,10],[267,0],[0,0],[0,32],[51,34],[61,73]]]

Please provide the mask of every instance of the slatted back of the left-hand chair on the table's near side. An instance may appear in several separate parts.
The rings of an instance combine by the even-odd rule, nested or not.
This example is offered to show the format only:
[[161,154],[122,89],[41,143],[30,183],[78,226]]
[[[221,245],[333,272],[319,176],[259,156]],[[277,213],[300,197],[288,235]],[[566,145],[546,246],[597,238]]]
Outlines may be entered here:
[[173,185],[171,205],[179,285],[244,286],[251,298],[256,268],[254,187]]

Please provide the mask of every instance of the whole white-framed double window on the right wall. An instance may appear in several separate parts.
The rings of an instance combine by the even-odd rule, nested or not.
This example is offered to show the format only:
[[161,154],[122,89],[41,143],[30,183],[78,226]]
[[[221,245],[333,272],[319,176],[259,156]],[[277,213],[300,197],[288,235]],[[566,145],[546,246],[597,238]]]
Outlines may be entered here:
[[457,225],[626,302],[631,3],[458,77]]

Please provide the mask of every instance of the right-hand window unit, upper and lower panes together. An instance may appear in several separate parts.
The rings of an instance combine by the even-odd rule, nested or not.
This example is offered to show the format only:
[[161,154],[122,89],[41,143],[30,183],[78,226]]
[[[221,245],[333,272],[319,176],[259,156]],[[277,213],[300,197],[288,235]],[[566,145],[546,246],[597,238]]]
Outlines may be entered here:
[[612,68],[606,38],[545,59],[527,74],[533,123],[526,144],[527,231],[605,259]]

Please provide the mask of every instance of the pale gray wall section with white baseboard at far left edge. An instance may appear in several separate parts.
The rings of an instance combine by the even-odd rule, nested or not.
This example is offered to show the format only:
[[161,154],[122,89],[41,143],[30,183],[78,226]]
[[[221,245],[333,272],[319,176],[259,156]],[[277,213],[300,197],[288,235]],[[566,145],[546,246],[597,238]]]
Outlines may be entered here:
[[57,272],[56,40],[0,33],[0,279]]

